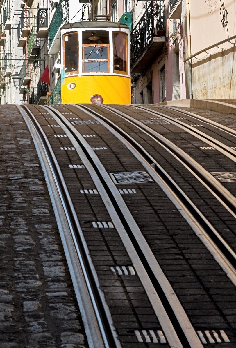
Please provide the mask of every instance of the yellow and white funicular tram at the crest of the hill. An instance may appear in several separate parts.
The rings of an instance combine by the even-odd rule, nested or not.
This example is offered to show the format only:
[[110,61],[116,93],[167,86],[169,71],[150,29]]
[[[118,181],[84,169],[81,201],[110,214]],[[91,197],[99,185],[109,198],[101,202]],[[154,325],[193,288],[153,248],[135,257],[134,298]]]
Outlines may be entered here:
[[130,104],[129,27],[83,21],[61,27],[61,103]]

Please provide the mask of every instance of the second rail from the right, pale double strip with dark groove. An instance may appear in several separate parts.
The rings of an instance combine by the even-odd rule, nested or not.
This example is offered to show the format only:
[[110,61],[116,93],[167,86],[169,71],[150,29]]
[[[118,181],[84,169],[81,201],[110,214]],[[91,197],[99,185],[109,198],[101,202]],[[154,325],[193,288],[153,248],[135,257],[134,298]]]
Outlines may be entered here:
[[216,150],[220,151],[221,153],[223,153],[223,155],[227,156],[229,159],[231,159],[232,161],[236,162],[236,151],[231,149],[230,147],[228,147],[227,145],[224,145],[223,143],[221,143],[220,141],[218,141],[217,139],[214,139],[213,137],[201,132],[201,130],[196,129],[194,127],[192,127],[191,125],[186,124],[183,121],[179,121],[177,119],[173,119],[173,117],[165,115],[159,111],[155,111],[155,110],[150,110],[150,108],[145,108],[144,106],[141,105],[135,105],[136,109],[141,109],[141,110],[145,110],[148,111],[149,113],[153,114],[153,115],[158,115],[160,118],[163,119],[168,119],[170,122],[172,122],[173,124],[176,124],[178,127],[185,129],[188,133],[198,137],[198,139],[203,140],[205,143],[213,146]]

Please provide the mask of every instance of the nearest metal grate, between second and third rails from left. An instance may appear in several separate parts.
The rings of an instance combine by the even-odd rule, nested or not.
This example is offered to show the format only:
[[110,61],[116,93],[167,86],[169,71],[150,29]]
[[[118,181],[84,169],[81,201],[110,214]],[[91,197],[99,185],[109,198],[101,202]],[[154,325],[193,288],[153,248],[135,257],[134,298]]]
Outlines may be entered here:
[[146,172],[120,172],[110,173],[116,184],[136,184],[153,182],[151,176]]

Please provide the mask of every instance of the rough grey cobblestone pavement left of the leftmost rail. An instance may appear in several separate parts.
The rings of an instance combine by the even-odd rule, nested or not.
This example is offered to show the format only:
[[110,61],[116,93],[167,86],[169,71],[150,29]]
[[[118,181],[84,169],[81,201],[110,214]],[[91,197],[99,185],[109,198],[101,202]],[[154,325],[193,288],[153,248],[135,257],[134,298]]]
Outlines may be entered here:
[[87,347],[43,172],[15,106],[0,109],[0,347]]

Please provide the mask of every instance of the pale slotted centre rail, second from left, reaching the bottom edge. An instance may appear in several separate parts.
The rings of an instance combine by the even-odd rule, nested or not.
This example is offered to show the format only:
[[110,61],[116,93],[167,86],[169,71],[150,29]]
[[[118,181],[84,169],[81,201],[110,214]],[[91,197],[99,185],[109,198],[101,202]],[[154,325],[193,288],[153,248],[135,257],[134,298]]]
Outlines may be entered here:
[[[77,107],[80,108],[79,106]],[[144,289],[146,290],[147,296],[149,297],[170,346],[173,348],[202,347],[202,344],[199,341],[189,318],[186,316],[180,301],[174,293],[173,288],[170,286],[167,278],[163,274],[163,271],[150,250],[142,232],[139,230],[137,223],[124,203],[119,190],[106,172],[104,166],[101,164],[96,153],[85,141],[84,137],[73,125],[71,125],[59,110],[50,106],[44,106],[44,108],[54,117],[55,121],[61,127],[63,127],[63,125],[66,126],[67,129],[63,127],[63,130],[67,136],[73,134],[74,140],[70,137],[73,146],[75,148],[77,146],[78,148],[79,144],[79,156],[83,160],[85,167],[89,169],[92,180],[107,207],[108,213],[112,216],[113,224],[116,227],[125,248],[129,251],[131,261],[134,264]],[[82,108],[81,110],[88,113],[93,118],[96,118],[89,111]],[[99,119],[99,122],[101,123],[102,121]],[[138,159],[140,160],[139,154]],[[146,163],[146,160],[144,159],[141,161],[142,163],[143,161]],[[149,172],[151,171],[151,175],[155,177],[156,181],[156,173],[149,164],[148,170]],[[93,171],[96,173],[95,176]],[[178,208],[180,209],[180,207]],[[183,346],[181,344],[182,342]]]

